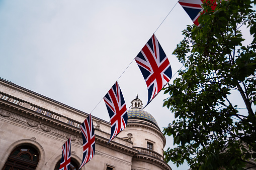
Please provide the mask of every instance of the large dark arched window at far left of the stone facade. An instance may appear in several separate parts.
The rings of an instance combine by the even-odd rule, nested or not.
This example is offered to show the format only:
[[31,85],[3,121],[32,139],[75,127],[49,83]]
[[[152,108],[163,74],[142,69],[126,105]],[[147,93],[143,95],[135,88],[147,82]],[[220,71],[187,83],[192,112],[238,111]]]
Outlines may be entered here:
[[16,147],[8,157],[4,170],[33,170],[39,161],[37,150],[31,146],[23,145]]

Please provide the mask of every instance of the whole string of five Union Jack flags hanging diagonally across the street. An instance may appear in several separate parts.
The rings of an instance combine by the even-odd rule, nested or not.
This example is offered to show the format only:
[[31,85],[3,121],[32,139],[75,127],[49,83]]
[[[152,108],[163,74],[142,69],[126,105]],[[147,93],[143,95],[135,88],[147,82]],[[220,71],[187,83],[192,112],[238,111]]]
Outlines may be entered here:
[[[212,10],[215,10],[217,6],[216,0],[208,1],[211,3]],[[202,7],[204,2],[205,0],[178,1],[196,26],[199,26],[198,18],[204,13]],[[154,34],[135,57],[135,61],[147,85],[147,106],[172,78],[172,68]],[[111,122],[110,142],[124,130],[128,120],[126,104],[117,81],[103,99]],[[80,129],[83,140],[83,158],[79,169],[95,155],[95,133],[91,114],[89,114],[89,116],[82,122]],[[69,138],[62,146],[62,157],[59,170],[69,170],[70,150],[71,140]]]

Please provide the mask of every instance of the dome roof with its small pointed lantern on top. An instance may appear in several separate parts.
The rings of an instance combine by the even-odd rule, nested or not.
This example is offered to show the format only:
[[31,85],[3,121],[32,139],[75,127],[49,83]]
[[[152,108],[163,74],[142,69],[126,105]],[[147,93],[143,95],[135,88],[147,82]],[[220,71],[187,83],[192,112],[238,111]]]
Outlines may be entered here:
[[135,99],[132,100],[131,104],[132,105],[131,105],[130,109],[127,111],[128,119],[129,118],[144,119],[144,120],[153,122],[155,125],[158,126],[155,118],[143,109],[143,107],[142,107],[143,103],[138,98],[138,95]]

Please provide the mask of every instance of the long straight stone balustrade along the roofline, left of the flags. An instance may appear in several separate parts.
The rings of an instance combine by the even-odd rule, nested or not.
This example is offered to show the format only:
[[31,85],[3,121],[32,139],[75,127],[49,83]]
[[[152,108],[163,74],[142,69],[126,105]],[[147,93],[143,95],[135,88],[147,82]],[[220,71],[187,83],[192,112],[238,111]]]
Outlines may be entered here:
[[37,113],[46,115],[46,116],[51,117],[53,119],[65,122],[65,123],[67,123],[67,124],[69,124],[71,126],[80,127],[80,124],[81,124],[80,122],[72,120],[72,119],[70,119],[68,117],[62,116],[62,115],[60,115],[58,113],[55,113],[55,112],[52,112],[50,110],[44,109],[44,108],[39,107],[37,105],[34,105],[32,103],[28,103],[26,101],[23,101],[23,100],[21,100],[19,98],[16,98],[14,96],[5,94],[3,92],[0,92],[0,99],[8,101],[8,102],[13,103],[13,104],[17,104],[19,106],[23,106],[23,107],[29,108],[32,111],[35,111]]

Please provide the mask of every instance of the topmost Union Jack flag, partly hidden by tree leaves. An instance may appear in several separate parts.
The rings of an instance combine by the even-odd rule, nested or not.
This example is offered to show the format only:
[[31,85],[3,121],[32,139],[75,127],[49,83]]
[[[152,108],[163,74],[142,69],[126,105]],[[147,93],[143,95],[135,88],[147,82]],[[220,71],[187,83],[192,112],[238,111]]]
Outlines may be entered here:
[[208,1],[211,3],[212,10],[214,10],[217,6],[216,0],[179,0],[179,4],[187,12],[193,23],[199,26],[198,18],[202,14],[201,12],[204,13],[202,4]]

